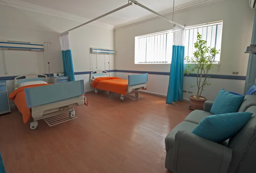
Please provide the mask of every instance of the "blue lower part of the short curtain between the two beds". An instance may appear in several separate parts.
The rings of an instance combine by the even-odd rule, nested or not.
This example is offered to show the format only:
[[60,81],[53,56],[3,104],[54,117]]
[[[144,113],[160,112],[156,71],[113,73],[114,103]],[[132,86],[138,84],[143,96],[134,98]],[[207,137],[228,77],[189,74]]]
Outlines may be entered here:
[[70,81],[75,81],[71,50],[62,51],[62,61],[65,75],[70,76]]

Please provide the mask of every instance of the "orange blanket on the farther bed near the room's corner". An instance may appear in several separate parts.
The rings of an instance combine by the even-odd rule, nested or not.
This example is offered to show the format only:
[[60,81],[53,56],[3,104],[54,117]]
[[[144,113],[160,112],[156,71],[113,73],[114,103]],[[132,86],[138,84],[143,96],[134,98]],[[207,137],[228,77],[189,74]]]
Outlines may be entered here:
[[117,77],[96,78],[92,82],[92,87],[105,91],[116,92],[123,95],[126,95],[127,86],[128,80],[120,79]]

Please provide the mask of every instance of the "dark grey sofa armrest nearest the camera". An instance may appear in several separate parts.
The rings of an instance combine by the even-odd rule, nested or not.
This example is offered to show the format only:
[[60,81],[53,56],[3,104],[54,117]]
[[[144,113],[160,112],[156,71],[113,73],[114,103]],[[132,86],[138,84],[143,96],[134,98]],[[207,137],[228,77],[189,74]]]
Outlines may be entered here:
[[232,149],[184,130],[175,135],[175,173],[227,173]]

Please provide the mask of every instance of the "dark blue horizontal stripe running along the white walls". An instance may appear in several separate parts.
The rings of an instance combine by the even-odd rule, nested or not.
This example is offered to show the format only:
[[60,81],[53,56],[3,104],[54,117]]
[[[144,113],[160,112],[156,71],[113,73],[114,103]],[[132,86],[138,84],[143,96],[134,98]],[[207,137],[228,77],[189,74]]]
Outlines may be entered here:
[[[169,72],[148,72],[148,71],[134,71],[134,70],[106,70],[107,72],[124,72],[124,73],[148,73],[151,75],[170,75]],[[88,72],[75,72],[75,75],[86,75],[90,74],[93,71]],[[48,74],[45,74],[49,77]],[[50,76],[53,76],[53,74],[50,74]],[[186,77],[196,77],[196,74],[185,74]],[[217,78],[217,79],[234,79],[234,80],[245,80],[246,76],[235,76],[235,75],[209,75],[210,78]],[[14,80],[17,76],[3,76],[0,77],[0,81],[7,81],[7,80]]]

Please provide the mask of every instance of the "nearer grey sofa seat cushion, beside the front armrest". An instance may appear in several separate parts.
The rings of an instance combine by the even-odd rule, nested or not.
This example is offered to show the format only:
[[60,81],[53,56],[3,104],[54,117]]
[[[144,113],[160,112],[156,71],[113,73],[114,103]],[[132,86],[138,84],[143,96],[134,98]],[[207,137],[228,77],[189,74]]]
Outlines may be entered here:
[[186,130],[188,132],[192,132],[192,130],[194,130],[197,125],[198,124],[183,121],[178,124],[174,129],[172,129],[172,131],[165,138],[166,152],[168,152],[169,147],[171,147],[171,150],[173,149],[175,135],[178,130]]

